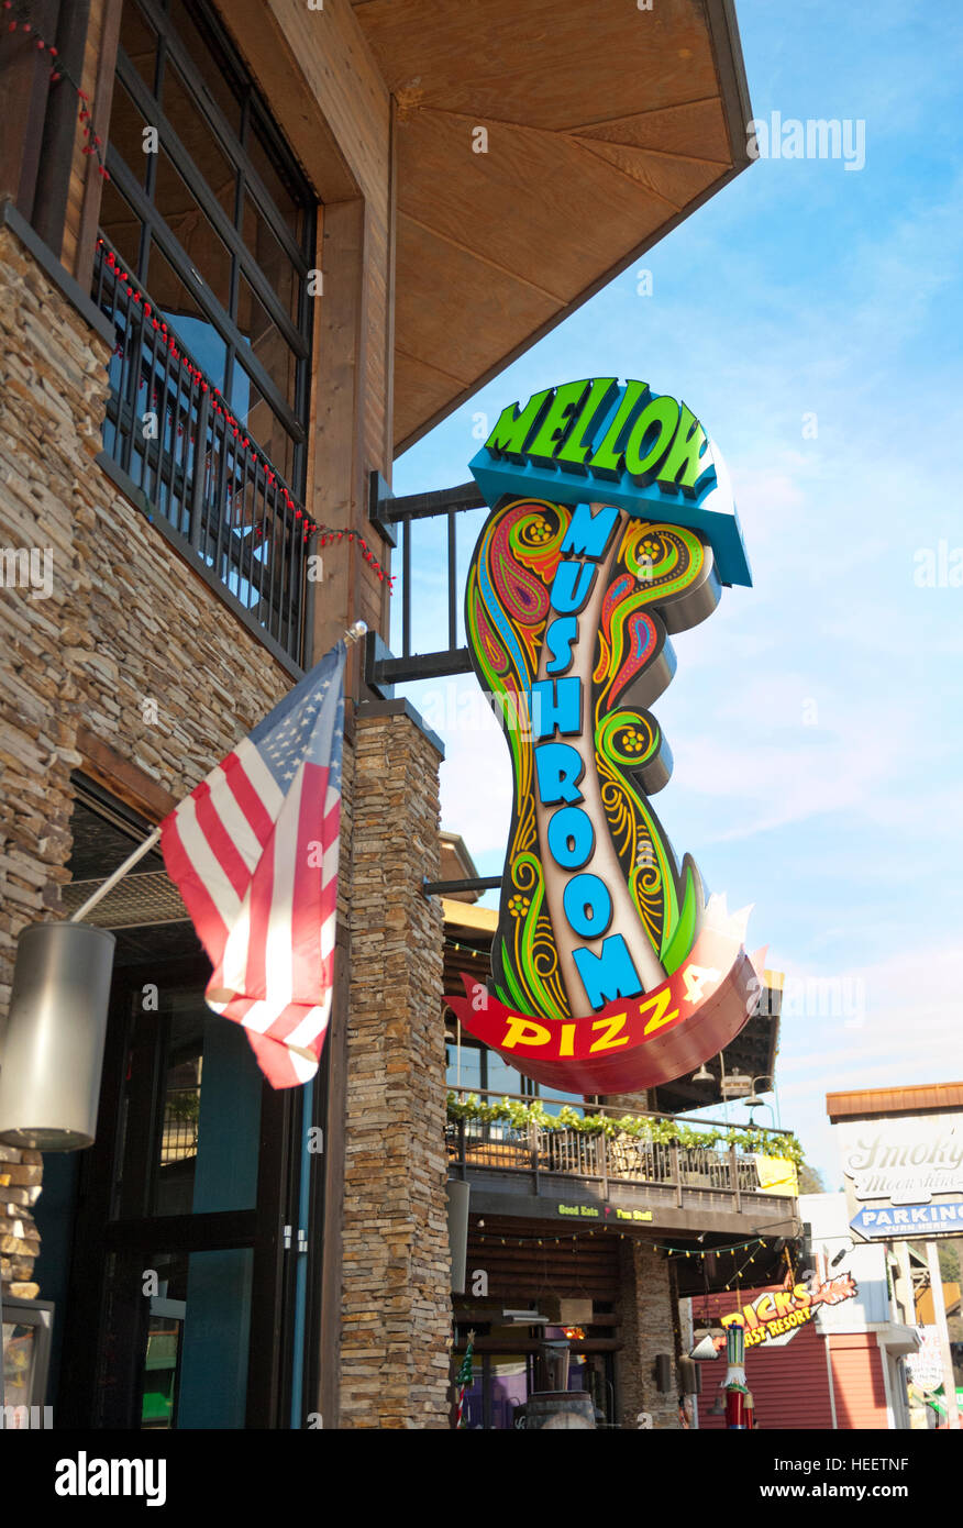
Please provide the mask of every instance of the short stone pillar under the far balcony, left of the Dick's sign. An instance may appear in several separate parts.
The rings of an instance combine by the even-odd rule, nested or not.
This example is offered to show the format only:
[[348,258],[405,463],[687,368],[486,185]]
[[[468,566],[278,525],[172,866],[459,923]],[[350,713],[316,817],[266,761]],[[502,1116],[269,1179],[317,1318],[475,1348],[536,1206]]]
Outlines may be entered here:
[[[653,1427],[679,1427],[676,1386],[676,1311],[665,1253],[627,1236],[619,1242],[619,1337],[618,1394],[621,1426],[636,1427],[639,1412],[651,1412]],[[673,1360],[673,1390],[656,1389],[656,1355]]]

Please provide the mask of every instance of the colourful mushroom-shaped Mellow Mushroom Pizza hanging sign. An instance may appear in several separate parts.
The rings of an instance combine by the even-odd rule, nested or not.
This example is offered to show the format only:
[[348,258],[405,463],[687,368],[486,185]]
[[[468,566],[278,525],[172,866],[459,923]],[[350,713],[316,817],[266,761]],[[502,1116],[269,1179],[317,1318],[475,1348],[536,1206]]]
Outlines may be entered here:
[[744,917],[650,804],[671,773],[647,709],[668,637],[751,584],[725,466],[685,403],[601,377],[506,408],[471,471],[492,513],[466,631],[514,810],[492,989],[465,978],[452,1007],[549,1086],[653,1086],[720,1051],[760,992]]

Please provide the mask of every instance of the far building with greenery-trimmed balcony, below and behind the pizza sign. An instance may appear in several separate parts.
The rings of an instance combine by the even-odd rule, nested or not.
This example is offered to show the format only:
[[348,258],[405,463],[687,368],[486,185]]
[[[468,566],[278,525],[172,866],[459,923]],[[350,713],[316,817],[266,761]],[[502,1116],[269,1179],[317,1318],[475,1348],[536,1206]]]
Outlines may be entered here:
[[[460,874],[472,869],[463,859]],[[446,992],[465,972],[483,984],[495,909],[454,897],[442,906]],[[758,1068],[772,1080],[781,978],[766,981],[728,1048],[731,1074]],[[456,1361],[469,1340],[474,1355],[466,1426],[527,1426],[526,1403],[556,1387],[556,1361],[567,1387],[592,1395],[596,1426],[683,1426],[680,1358],[692,1342],[680,1297],[721,1288],[734,1258],[781,1268],[783,1248],[801,1241],[781,1137],[769,1134],[767,1158],[749,1132],[731,1144],[720,1118],[694,1126],[703,1144],[686,1144],[668,1111],[686,1106],[691,1079],[679,1079],[679,1099],[671,1088],[564,1094],[474,1039],[451,1008],[445,1044],[448,1170],[469,1186],[465,1290],[452,1294]],[[720,1102],[720,1083],[708,1096],[702,1085],[706,1103]],[[610,1118],[611,1132],[587,1129],[587,1117]]]

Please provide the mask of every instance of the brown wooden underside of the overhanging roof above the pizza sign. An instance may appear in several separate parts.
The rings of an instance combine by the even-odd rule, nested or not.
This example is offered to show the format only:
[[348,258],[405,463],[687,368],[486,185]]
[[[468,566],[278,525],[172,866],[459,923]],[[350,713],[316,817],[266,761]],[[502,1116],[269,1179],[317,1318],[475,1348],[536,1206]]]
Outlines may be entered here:
[[394,101],[402,451],[743,170],[752,112],[729,0],[355,15]]

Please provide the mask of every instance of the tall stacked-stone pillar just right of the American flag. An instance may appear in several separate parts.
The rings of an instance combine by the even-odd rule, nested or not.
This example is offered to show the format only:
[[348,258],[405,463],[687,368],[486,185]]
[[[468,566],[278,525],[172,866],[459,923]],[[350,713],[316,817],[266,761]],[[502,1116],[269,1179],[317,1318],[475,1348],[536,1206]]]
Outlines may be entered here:
[[[439,755],[361,707],[352,836],[341,1427],[448,1427]],[[374,712],[374,714],[371,714]]]

